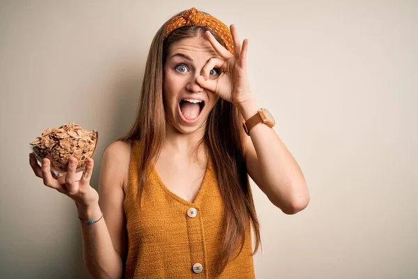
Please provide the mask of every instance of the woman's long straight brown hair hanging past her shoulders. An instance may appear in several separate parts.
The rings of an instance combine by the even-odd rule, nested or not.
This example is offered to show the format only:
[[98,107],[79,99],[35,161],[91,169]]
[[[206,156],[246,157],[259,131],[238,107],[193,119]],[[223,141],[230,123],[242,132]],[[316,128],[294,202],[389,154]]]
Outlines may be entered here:
[[[140,163],[139,199],[146,181],[146,169],[149,164],[155,164],[165,139],[167,123],[162,98],[162,80],[163,66],[170,46],[184,38],[202,36],[206,30],[224,45],[222,39],[207,27],[180,27],[163,40],[167,22],[157,31],[150,46],[137,119],[129,133],[119,139],[141,140],[144,152],[141,154]],[[219,191],[224,202],[222,223],[224,238],[217,262],[219,273],[222,273],[237,248],[240,249],[239,252],[242,250],[248,223],[251,223],[255,234],[253,255],[261,243],[260,228],[245,165],[244,136],[240,112],[232,103],[219,99],[208,116],[206,133],[201,140],[201,144],[207,147],[208,156],[215,167]]]

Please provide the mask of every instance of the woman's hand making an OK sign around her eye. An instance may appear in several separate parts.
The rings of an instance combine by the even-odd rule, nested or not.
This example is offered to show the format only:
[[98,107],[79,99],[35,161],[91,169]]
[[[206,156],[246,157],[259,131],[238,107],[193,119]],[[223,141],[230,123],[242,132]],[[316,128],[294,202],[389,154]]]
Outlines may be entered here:
[[[251,98],[251,90],[247,77],[248,40],[242,45],[238,40],[235,25],[231,25],[234,54],[223,47],[210,33],[206,31],[206,38],[221,58],[212,58],[203,68],[203,75],[197,77],[196,82],[205,89],[216,93],[224,100],[239,106]],[[217,68],[221,71],[219,77],[210,79],[210,71]]]

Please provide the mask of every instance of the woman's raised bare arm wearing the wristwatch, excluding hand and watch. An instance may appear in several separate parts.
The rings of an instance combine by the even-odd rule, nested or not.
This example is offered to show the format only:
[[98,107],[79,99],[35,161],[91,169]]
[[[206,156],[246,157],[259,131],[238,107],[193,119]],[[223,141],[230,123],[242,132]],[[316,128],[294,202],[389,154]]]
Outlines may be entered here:
[[[259,109],[255,100],[239,110],[247,121]],[[245,160],[249,176],[272,204],[286,214],[294,214],[309,204],[309,190],[302,171],[291,152],[272,128],[258,124],[246,135]]]

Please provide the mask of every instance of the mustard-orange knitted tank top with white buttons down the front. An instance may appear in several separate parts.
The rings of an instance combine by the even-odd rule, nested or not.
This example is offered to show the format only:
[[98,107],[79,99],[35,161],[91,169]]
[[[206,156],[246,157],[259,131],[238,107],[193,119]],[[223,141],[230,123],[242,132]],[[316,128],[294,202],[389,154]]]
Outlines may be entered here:
[[224,237],[224,211],[210,160],[194,202],[172,193],[155,167],[149,167],[139,210],[140,154],[141,144],[133,141],[124,202],[128,239],[125,278],[255,278],[249,223],[242,252],[215,276],[215,261]]

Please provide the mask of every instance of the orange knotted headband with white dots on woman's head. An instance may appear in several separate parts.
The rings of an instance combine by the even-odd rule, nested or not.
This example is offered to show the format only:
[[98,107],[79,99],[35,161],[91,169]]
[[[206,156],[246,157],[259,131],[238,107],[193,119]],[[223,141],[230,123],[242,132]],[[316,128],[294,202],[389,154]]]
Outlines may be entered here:
[[201,13],[196,8],[186,10],[185,13],[178,17],[173,17],[164,31],[164,40],[172,31],[184,26],[209,27],[222,38],[226,45],[226,49],[233,54],[233,41],[229,28],[224,22],[212,17],[212,15]]

